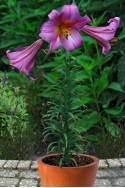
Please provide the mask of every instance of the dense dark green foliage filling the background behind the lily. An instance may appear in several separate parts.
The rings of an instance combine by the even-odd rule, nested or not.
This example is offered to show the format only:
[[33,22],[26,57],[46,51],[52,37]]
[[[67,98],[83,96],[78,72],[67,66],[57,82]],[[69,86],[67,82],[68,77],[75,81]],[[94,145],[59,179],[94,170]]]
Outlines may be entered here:
[[[97,42],[82,33],[83,46],[72,52],[71,57],[78,69],[76,81],[80,93],[74,100],[74,108],[81,112],[76,127],[80,127],[89,140],[86,151],[101,158],[125,157],[125,1],[74,2],[81,16],[87,13],[91,17],[92,25],[106,25],[107,20],[115,16],[121,18],[117,44],[106,57],[100,55]],[[64,57],[60,50],[48,57],[41,50],[32,71],[37,81],[32,82],[8,65],[5,52],[37,40],[40,26],[48,20],[48,13],[70,3],[70,0],[0,0],[0,70],[7,71],[9,81],[20,86],[21,94],[26,97],[32,130],[37,135],[36,146],[42,140],[43,115],[56,94],[53,84],[63,77]],[[47,44],[44,44],[44,50],[48,51]]]

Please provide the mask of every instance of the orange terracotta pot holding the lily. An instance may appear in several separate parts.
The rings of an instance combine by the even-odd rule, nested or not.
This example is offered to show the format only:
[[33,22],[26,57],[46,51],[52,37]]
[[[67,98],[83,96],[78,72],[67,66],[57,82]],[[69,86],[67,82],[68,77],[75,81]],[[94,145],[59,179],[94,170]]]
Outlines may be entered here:
[[[56,155],[56,154],[53,154]],[[96,179],[99,160],[90,155],[82,156],[93,159],[93,163],[79,167],[58,167],[43,163],[40,157],[37,160],[41,184],[43,187],[93,187]]]

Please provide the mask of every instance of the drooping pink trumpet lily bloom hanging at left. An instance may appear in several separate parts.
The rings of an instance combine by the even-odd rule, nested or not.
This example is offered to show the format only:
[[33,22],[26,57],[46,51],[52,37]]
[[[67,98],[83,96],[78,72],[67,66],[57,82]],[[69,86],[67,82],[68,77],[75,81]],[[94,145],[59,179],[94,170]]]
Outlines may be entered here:
[[[15,52],[10,52],[10,50],[7,50],[6,54],[10,60],[10,65],[20,70],[24,74],[29,75],[35,63],[35,57],[42,44],[42,40],[39,39],[31,46],[15,49]],[[34,80],[34,78],[31,76],[30,79]]]

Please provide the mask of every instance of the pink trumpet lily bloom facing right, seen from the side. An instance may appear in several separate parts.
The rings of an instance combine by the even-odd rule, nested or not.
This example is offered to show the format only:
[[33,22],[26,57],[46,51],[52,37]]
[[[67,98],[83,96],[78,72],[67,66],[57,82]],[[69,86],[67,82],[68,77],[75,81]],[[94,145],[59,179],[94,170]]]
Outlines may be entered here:
[[109,26],[106,27],[95,27],[95,26],[88,26],[85,25],[82,28],[82,31],[91,37],[95,38],[99,45],[102,47],[102,54],[106,55],[109,50],[111,49],[111,46],[113,45],[113,42],[115,41],[115,33],[117,28],[119,27],[120,18],[115,17],[111,18],[109,21]]

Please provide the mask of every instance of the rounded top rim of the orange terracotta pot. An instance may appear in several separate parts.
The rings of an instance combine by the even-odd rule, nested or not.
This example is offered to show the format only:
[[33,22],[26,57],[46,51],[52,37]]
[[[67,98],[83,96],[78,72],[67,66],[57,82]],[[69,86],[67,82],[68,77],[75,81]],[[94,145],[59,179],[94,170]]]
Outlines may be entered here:
[[[49,154],[49,155],[44,155],[42,157],[39,157],[37,159],[37,163],[40,163],[44,166],[48,166],[48,167],[53,167],[53,168],[60,168],[59,166],[55,166],[55,165],[49,165],[49,164],[46,164],[43,162],[43,159],[47,158],[47,157],[50,157],[50,156],[57,156],[59,154]],[[74,154],[74,155],[77,155],[77,154]],[[73,167],[62,167],[63,169],[69,169],[69,168],[72,168],[72,169],[77,169],[77,168],[87,168],[89,166],[94,166],[96,164],[99,163],[99,159],[95,156],[92,156],[92,155],[87,155],[87,154],[79,154],[80,156],[86,156],[88,158],[91,158],[93,160],[93,162],[91,164],[87,164],[87,165],[82,165],[82,166],[73,166]]]

